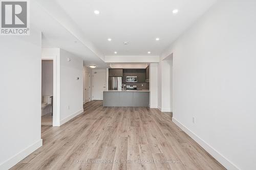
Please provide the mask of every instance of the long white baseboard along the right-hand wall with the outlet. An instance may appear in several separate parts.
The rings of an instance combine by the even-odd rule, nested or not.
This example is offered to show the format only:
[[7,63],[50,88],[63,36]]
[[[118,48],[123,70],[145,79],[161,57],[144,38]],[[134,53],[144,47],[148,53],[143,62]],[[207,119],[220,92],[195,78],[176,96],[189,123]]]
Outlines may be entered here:
[[197,136],[194,132],[190,131],[184,125],[182,125],[177,119],[173,117],[173,122],[182,129],[188,136],[193,138],[203,149],[205,149],[212,157],[219,161],[225,168],[229,170],[239,170],[239,168],[234,165],[231,161],[225,158],[221,153],[212,148],[208,143],[203,139]]

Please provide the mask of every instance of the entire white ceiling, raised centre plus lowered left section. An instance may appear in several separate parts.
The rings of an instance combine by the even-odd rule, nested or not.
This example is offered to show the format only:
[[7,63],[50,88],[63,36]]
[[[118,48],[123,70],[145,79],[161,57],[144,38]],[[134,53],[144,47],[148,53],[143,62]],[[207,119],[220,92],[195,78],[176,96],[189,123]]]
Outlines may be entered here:
[[[45,22],[41,23],[44,47],[58,46],[82,56],[86,63],[106,67],[104,56],[160,56],[216,1],[37,0],[52,19],[41,16],[36,22]],[[176,15],[174,9],[179,9]]]

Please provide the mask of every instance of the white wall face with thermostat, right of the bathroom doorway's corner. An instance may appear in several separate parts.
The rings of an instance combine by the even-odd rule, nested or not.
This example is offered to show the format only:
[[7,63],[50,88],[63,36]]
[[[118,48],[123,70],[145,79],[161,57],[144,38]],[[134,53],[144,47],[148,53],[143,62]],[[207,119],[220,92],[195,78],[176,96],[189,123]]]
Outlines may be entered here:
[[[68,61],[68,58],[71,61]],[[81,112],[83,112],[83,60],[60,49],[60,124],[66,123]]]

